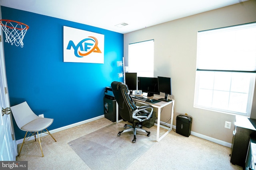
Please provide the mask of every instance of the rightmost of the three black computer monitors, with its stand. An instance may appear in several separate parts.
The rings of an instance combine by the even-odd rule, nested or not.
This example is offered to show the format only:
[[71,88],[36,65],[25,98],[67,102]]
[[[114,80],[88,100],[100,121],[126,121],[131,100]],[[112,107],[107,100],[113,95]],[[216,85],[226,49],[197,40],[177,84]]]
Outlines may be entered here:
[[160,77],[158,76],[158,89],[159,92],[165,94],[164,98],[158,99],[164,102],[170,102],[172,100],[168,99],[168,94],[172,95],[172,79],[170,77]]

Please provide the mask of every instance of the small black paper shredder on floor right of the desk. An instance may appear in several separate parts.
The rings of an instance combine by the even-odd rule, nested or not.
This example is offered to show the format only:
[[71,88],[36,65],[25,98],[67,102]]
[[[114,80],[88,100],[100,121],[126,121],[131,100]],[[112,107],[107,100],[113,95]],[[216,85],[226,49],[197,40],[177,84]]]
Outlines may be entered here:
[[192,117],[178,115],[176,117],[176,133],[189,137],[191,132]]

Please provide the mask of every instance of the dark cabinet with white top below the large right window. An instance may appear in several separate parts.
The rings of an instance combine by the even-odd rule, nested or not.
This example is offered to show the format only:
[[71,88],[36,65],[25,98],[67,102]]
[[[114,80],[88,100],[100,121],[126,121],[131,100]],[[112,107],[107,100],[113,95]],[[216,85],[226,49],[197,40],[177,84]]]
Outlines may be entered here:
[[230,162],[245,167],[250,135],[256,135],[256,120],[246,117],[236,117],[233,133]]

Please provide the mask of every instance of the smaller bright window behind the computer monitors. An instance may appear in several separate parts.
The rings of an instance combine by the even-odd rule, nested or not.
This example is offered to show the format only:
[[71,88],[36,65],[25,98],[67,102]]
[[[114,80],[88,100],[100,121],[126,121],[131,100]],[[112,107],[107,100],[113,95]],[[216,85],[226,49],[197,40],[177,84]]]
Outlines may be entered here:
[[128,66],[138,77],[154,77],[154,40],[129,44]]

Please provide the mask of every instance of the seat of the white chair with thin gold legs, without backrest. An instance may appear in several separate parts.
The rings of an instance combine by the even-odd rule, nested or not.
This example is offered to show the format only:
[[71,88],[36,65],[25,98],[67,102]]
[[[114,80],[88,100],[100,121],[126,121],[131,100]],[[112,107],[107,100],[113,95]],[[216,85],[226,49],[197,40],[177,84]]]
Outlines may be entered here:
[[52,122],[53,119],[38,117],[38,119],[30,121],[28,124],[24,125],[20,129],[23,131],[38,132],[49,127],[52,124]]

